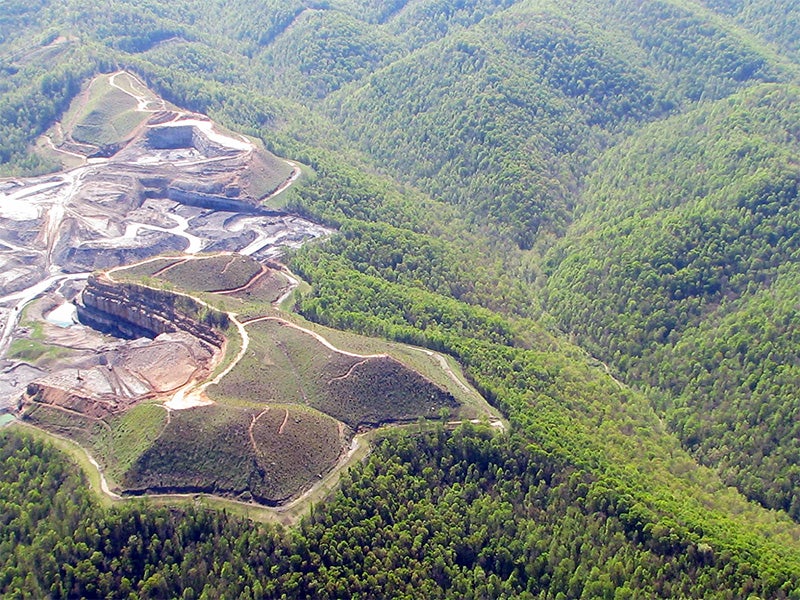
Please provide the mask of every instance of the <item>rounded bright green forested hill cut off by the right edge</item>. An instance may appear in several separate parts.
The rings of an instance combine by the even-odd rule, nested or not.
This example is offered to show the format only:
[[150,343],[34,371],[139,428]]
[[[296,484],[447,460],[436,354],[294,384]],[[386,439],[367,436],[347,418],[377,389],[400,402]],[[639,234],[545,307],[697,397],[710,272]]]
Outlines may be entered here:
[[596,356],[663,392],[703,462],[796,519],[799,100],[757,87],[608,152],[552,254],[547,302]]

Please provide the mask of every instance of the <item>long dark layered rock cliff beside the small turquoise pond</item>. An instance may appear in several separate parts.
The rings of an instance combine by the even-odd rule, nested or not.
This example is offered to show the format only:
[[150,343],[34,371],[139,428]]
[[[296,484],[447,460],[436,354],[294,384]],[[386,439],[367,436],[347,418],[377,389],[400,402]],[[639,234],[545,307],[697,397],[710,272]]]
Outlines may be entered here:
[[228,317],[187,296],[133,283],[112,282],[92,275],[78,305],[82,323],[119,337],[154,338],[162,333],[184,331],[210,346],[225,341],[215,326],[225,327]]

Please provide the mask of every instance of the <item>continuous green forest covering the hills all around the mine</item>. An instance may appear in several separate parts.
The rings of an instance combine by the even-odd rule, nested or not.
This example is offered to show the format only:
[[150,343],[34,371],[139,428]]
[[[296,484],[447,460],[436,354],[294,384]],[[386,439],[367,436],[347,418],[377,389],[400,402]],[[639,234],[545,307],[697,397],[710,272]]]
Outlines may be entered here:
[[3,2],[0,173],[137,73],[308,166],[304,316],[512,431],[390,439],[281,532],[100,509],[12,430],[2,593],[800,597],[798,40],[788,0]]

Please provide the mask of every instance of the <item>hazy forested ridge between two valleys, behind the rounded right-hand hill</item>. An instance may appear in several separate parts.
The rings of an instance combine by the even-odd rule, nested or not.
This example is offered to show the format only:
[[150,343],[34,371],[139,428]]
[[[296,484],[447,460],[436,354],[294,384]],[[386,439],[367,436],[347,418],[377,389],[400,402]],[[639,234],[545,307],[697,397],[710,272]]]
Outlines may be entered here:
[[332,94],[328,113],[393,175],[529,248],[564,231],[589,161],[616,133],[778,76],[677,6],[632,18],[625,3],[604,3],[605,15],[573,4],[568,15],[520,3],[425,45]]

